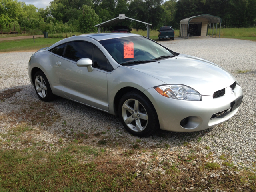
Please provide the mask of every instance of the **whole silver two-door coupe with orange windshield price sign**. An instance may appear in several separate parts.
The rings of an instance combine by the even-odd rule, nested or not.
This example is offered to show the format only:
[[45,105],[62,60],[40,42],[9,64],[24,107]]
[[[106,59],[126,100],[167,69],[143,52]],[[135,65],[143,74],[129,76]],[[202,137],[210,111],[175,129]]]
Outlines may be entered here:
[[63,39],[33,54],[28,74],[41,100],[57,95],[119,115],[136,136],[216,126],[236,114],[243,98],[220,66],[131,33]]

